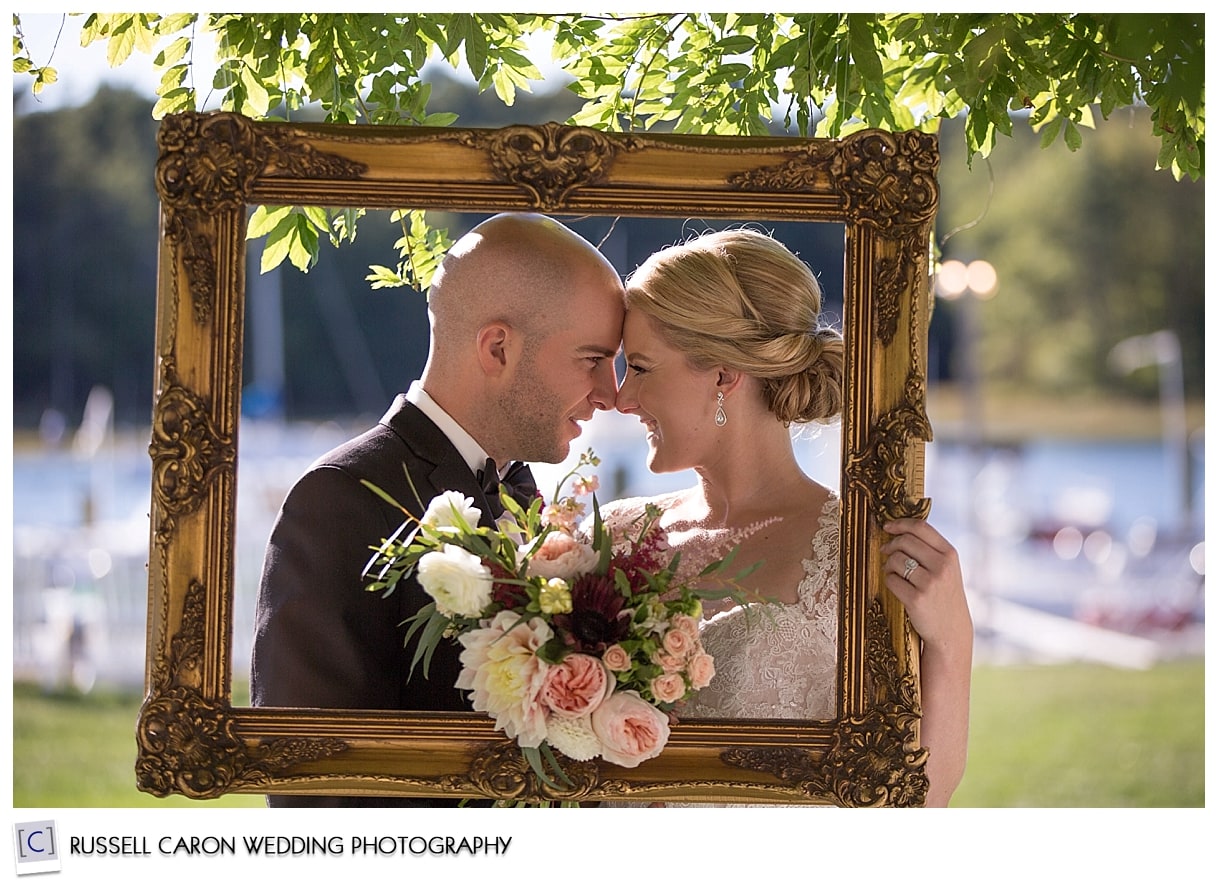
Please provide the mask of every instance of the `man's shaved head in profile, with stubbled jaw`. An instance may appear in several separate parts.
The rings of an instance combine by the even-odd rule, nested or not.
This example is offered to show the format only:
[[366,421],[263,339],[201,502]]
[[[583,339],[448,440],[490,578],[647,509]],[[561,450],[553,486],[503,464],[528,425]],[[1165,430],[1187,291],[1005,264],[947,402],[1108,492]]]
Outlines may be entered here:
[[625,297],[582,236],[541,214],[496,214],[432,279],[423,387],[497,462],[560,462],[577,424],[616,400]]

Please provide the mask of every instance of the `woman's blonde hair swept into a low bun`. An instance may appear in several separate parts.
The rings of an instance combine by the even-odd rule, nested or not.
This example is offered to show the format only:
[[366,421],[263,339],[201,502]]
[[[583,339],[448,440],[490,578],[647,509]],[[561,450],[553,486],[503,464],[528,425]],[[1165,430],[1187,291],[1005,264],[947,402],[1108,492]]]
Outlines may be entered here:
[[772,236],[736,229],[663,249],[627,279],[626,308],[650,316],[694,368],[761,380],[788,425],[842,412],[842,335],[821,323],[812,270]]

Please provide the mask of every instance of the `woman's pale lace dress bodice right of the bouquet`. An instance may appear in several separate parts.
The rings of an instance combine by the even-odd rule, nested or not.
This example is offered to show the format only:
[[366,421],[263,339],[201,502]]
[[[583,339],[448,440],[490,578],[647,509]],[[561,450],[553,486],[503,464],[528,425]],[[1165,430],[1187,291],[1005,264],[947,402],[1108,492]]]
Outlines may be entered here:
[[[672,501],[650,499],[661,508]],[[610,526],[628,523],[638,517],[646,502],[625,499],[607,507],[605,523]],[[678,716],[737,720],[836,716],[839,526],[839,498],[831,495],[817,519],[809,556],[803,560],[804,576],[795,603],[733,607],[703,623],[703,646],[715,659],[715,676],[677,708]]]

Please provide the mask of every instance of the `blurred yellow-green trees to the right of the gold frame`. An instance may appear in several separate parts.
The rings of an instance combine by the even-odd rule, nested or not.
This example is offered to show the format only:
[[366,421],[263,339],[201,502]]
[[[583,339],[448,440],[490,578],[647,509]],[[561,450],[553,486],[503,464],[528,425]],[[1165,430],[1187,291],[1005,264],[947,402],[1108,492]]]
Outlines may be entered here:
[[[1123,339],[1169,330],[1188,395],[1202,397],[1205,179],[1151,171],[1147,112],[1099,122],[1088,153],[1040,150],[1034,133],[1015,127],[1012,149],[971,172],[957,139],[940,138],[942,257],[988,259],[999,277],[998,294],[974,305],[988,389],[1153,398],[1155,370],[1122,376],[1108,353]],[[932,334],[950,339],[966,305],[935,308]]]

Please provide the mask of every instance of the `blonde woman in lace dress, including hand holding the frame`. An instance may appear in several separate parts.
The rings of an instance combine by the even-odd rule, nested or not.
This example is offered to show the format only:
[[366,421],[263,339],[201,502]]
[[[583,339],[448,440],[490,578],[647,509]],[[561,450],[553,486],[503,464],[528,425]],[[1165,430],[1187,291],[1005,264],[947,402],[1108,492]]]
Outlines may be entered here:
[[[609,503],[608,523],[647,502],[682,565],[738,545],[743,587],[776,602],[762,615],[708,609],[711,683],[680,710],[720,719],[832,719],[837,696],[837,493],[795,460],[789,426],[842,408],[843,344],[821,323],[811,270],[771,236],[706,234],[664,249],[626,284],[626,376],[618,409],[647,430],[652,471],[698,484]],[[946,805],[965,769],[972,620],[955,548],[922,520],[885,526],[884,582],[918,632],[927,805]],[[748,620],[745,616],[748,615]]]

